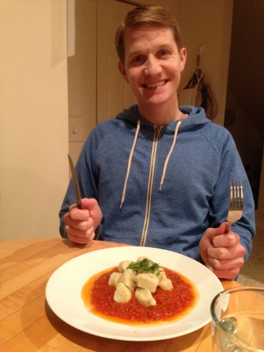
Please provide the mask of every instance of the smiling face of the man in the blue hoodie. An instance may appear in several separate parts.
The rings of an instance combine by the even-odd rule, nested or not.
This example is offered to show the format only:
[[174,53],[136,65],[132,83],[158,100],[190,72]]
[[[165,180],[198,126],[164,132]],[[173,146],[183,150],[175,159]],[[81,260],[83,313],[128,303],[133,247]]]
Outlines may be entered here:
[[140,108],[150,104],[177,106],[177,88],[186,49],[180,53],[172,30],[139,25],[125,32],[125,64],[119,70],[130,83]]

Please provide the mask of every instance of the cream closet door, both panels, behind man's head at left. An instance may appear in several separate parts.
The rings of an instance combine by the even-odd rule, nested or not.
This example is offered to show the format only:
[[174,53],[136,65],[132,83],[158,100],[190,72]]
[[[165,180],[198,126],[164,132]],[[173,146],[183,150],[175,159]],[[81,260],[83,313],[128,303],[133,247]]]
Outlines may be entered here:
[[68,58],[69,153],[76,163],[97,122],[135,102],[118,71],[115,30],[134,6],[115,0],[76,0],[75,56]]

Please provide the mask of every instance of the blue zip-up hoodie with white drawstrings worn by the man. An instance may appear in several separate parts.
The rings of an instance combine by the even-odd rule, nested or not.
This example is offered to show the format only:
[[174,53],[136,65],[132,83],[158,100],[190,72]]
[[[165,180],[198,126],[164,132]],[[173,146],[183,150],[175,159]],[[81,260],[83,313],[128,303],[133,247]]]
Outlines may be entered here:
[[[230,180],[241,180],[244,214],[232,230],[249,256],[255,235],[254,203],[231,134],[182,106],[188,118],[156,128],[131,106],[101,122],[76,164],[82,198],[95,198],[103,213],[99,239],[149,246],[201,260],[199,241],[208,227],[227,220]],[[59,216],[75,203],[71,181]]]

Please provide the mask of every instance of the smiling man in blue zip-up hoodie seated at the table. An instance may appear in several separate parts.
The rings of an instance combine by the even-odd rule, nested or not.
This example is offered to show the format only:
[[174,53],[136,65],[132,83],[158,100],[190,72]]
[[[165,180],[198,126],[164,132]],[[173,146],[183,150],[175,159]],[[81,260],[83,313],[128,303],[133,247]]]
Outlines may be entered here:
[[[153,246],[205,263],[233,279],[255,234],[249,181],[232,136],[202,108],[178,106],[187,51],[172,15],[158,6],[130,11],[116,32],[119,71],[137,105],[101,122],[84,144],[61,208],[61,235]],[[244,214],[226,232],[230,180],[244,187]]]

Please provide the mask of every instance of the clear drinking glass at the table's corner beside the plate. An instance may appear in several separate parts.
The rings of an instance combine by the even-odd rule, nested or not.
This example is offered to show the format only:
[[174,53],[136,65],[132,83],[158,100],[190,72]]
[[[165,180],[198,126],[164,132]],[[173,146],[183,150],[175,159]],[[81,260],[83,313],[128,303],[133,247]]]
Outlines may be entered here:
[[213,352],[264,351],[264,288],[220,292],[210,306]]

